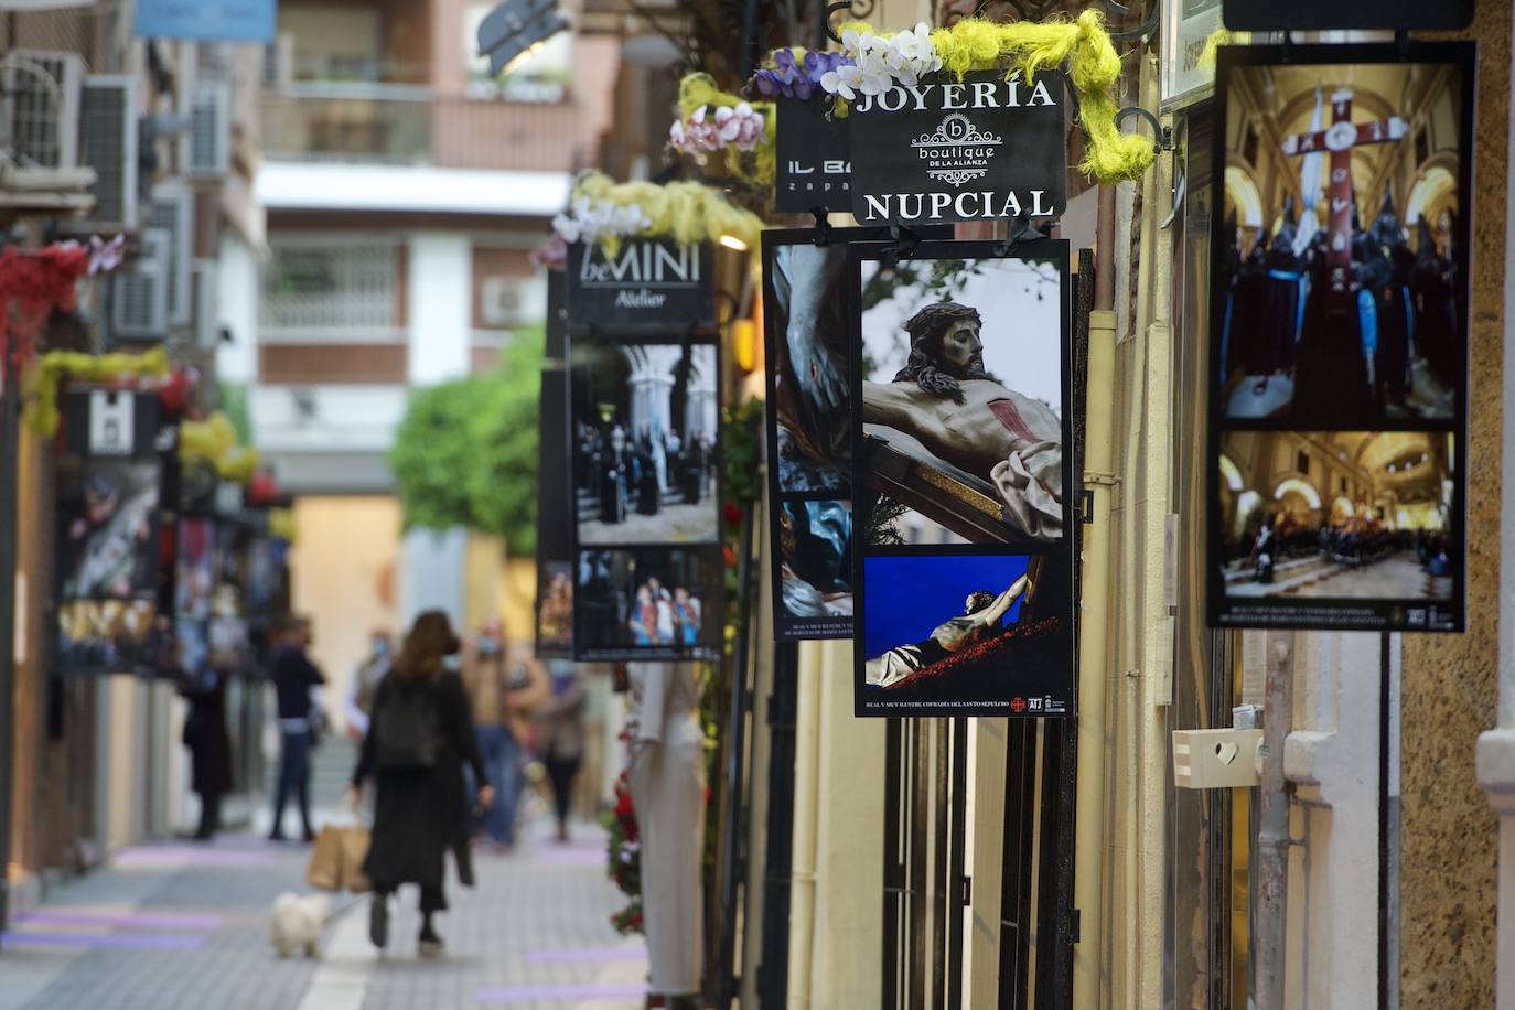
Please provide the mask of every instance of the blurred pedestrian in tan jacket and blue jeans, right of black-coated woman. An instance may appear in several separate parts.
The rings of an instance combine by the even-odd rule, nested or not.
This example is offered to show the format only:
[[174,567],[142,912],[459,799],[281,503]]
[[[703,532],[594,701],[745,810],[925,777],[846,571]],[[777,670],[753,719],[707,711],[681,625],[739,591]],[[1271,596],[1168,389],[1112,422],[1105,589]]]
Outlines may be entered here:
[[480,827],[497,853],[508,853],[515,846],[532,712],[550,695],[551,686],[536,659],[512,650],[504,641],[498,618],[485,621],[468,642],[462,668],[479,753],[488,784],[494,786],[494,806],[482,812]]

